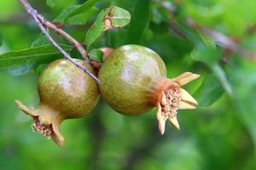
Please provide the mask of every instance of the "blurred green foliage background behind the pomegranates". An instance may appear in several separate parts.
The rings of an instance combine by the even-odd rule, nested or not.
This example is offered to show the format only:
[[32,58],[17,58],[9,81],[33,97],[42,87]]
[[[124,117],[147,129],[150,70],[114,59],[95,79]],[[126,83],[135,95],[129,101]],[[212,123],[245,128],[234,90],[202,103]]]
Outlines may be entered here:
[[[63,9],[84,0],[31,3],[54,20]],[[155,110],[122,116],[101,100],[90,115],[61,124],[66,141],[59,148],[32,133],[32,118],[14,102],[38,105],[37,69],[26,62],[22,67],[0,67],[0,169],[256,169],[255,0],[104,0],[96,8],[111,4],[128,10],[131,23],[106,32],[94,48],[142,44],[164,59],[168,77],[183,71],[201,74],[184,87],[198,99],[199,108],[178,111],[181,131],[167,123],[161,136]],[[93,14],[82,24],[70,21],[63,29],[83,42],[95,19]],[[202,48],[204,33],[227,41],[212,31],[236,43],[235,48]],[[3,54],[30,48],[40,31],[18,1],[1,0],[0,34]],[[71,54],[79,57],[74,50]]]

